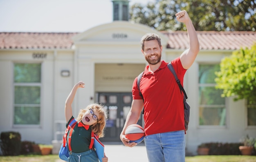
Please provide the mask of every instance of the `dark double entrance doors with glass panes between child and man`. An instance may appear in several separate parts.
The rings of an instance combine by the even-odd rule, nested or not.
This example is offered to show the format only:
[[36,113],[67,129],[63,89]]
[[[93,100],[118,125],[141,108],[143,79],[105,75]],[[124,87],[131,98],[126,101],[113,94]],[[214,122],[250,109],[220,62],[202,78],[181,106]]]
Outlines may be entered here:
[[[101,141],[120,142],[120,133],[132,104],[132,93],[98,93],[98,101],[108,111],[108,120]],[[140,116],[137,124],[142,124]]]

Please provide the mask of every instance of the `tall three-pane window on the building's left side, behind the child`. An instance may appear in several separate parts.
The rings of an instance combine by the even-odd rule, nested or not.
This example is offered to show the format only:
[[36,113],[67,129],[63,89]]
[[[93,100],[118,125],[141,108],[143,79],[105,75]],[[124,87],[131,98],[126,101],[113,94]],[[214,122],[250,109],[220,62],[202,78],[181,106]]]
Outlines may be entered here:
[[40,124],[41,64],[14,64],[14,124]]

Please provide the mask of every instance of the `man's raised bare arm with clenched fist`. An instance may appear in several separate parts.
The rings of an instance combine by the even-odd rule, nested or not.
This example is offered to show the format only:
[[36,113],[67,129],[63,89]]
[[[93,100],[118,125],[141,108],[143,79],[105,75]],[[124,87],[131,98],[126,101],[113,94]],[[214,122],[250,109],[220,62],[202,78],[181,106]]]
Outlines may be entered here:
[[179,22],[185,23],[188,32],[189,49],[187,49],[182,53],[182,55],[180,55],[180,61],[184,69],[189,69],[189,67],[191,67],[191,65],[195,61],[195,58],[199,52],[198,36],[195,32],[193,23],[186,11],[180,11],[176,13],[175,16]]

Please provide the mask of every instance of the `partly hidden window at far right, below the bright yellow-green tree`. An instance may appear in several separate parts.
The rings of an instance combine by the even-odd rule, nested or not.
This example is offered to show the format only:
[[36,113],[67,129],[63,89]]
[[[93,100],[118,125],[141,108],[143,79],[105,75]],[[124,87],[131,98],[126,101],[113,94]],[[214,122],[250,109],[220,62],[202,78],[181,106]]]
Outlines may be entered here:
[[247,124],[248,126],[256,126],[256,101],[247,101]]

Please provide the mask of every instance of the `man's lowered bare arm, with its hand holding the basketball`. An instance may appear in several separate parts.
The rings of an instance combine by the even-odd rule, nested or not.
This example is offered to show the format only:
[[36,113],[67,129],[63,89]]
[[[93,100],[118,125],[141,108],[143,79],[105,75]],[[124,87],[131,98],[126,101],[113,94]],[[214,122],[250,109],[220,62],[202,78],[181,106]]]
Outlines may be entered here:
[[139,115],[143,109],[144,102],[143,100],[132,100],[132,106],[131,109],[127,115],[126,122],[124,124],[124,128],[120,134],[120,139],[124,143],[125,146],[133,147],[136,146],[137,143],[132,142],[130,143],[128,138],[125,137],[124,133],[126,128],[131,124],[136,124],[139,120]]

